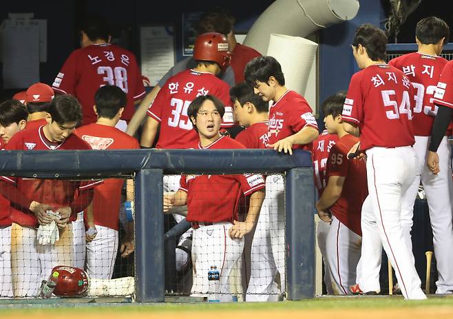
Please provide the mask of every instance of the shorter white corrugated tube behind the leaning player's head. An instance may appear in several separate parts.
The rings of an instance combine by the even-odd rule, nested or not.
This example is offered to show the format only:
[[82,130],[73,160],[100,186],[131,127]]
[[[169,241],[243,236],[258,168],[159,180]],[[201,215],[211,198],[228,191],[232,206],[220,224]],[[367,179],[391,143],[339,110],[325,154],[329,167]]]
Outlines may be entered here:
[[271,34],[266,55],[273,56],[282,65],[286,88],[305,95],[308,75],[313,61],[315,61],[317,46],[317,43],[301,37]]

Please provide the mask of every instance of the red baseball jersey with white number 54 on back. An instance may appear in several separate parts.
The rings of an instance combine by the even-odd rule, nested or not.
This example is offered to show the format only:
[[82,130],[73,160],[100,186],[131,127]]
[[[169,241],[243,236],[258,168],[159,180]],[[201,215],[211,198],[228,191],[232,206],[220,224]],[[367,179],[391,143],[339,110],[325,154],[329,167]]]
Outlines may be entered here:
[[388,64],[370,65],[349,83],[342,119],[360,128],[360,148],[413,145],[412,105],[409,79]]

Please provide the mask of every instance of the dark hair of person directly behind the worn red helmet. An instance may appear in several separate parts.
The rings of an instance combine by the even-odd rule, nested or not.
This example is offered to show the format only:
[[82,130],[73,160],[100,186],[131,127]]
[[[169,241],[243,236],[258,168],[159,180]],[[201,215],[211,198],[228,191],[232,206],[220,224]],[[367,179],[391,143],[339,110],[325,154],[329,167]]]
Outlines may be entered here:
[[207,32],[218,32],[229,34],[233,31],[235,19],[228,10],[221,7],[214,7],[208,12],[204,12],[196,24],[197,34]]

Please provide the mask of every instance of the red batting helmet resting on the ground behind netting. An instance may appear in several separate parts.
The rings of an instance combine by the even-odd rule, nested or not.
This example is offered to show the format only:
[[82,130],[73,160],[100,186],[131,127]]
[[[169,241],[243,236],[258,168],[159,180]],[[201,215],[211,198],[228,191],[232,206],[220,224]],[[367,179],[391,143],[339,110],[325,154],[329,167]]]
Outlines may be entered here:
[[83,269],[70,266],[56,266],[52,274],[58,272],[58,282],[54,289],[54,295],[60,297],[81,296],[88,291],[89,277]]

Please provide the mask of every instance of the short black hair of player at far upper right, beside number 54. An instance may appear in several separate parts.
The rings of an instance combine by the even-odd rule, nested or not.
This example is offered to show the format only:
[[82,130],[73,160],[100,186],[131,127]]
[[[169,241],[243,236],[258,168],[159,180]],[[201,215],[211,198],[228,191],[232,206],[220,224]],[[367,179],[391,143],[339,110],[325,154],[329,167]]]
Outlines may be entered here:
[[445,21],[437,17],[426,17],[417,23],[415,36],[423,44],[436,44],[445,38],[444,43],[450,39],[450,27]]

